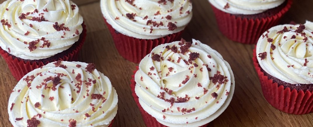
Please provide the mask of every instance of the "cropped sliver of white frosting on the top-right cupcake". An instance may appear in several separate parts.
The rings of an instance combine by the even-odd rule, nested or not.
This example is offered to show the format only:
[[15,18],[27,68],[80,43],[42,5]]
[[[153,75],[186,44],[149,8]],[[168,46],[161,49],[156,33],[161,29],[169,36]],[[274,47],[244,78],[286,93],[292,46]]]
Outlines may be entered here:
[[276,8],[285,0],[209,0],[219,10],[230,14],[258,14]]

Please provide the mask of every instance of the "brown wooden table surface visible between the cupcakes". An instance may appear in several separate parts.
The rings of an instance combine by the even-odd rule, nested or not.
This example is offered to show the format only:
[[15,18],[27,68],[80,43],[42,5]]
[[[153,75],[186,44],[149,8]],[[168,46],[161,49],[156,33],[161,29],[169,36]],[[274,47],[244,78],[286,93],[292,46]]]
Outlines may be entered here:
[[[0,0],[3,2],[4,0]],[[123,59],[117,52],[100,10],[99,0],[73,0],[87,25],[87,38],[79,60],[95,63],[109,77],[118,94],[118,111],[113,127],[145,126],[131,96],[131,75],[137,64]],[[209,126],[313,126],[313,113],[292,115],[281,112],[266,102],[252,63],[254,45],[235,43],[223,36],[208,0],[193,0],[193,18],[183,38],[200,40],[217,50],[228,61],[235,75],[236,88],[228,108]],[[313,21],[312,0],[297,0],[281,23]],[[7,64],[0,58],[0,127],[11,126],[7,106],[16,81]]]

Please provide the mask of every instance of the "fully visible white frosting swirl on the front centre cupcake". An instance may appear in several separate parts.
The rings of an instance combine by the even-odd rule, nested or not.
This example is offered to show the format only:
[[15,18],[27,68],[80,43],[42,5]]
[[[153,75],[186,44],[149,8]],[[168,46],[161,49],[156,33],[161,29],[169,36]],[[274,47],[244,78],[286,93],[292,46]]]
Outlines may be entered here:
[[166,126],[201,126],[230,103],[235,82],[229,64],[199,41],[162,44],[135,74],[142,108]]

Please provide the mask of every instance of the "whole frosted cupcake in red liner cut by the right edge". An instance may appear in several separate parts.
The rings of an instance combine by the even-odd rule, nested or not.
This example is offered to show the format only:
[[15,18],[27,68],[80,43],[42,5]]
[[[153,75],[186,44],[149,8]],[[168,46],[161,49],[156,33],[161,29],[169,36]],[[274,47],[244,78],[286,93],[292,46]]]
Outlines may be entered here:
[[313,23],[279,25],[263,33],[253,61],[264,98],[290,114],[313,112]]

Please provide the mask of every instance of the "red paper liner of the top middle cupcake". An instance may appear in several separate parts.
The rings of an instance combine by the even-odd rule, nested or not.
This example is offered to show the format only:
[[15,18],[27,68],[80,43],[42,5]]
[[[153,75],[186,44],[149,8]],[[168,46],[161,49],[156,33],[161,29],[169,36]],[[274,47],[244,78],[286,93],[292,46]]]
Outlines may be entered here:
[[104,21],[110,30],[115,47],[120,55],[128,61],[140,63],[141,59],[160,44],[171,43],[181,39],[182,31],[157,39],[138,39],[118,33],[109,23]]

